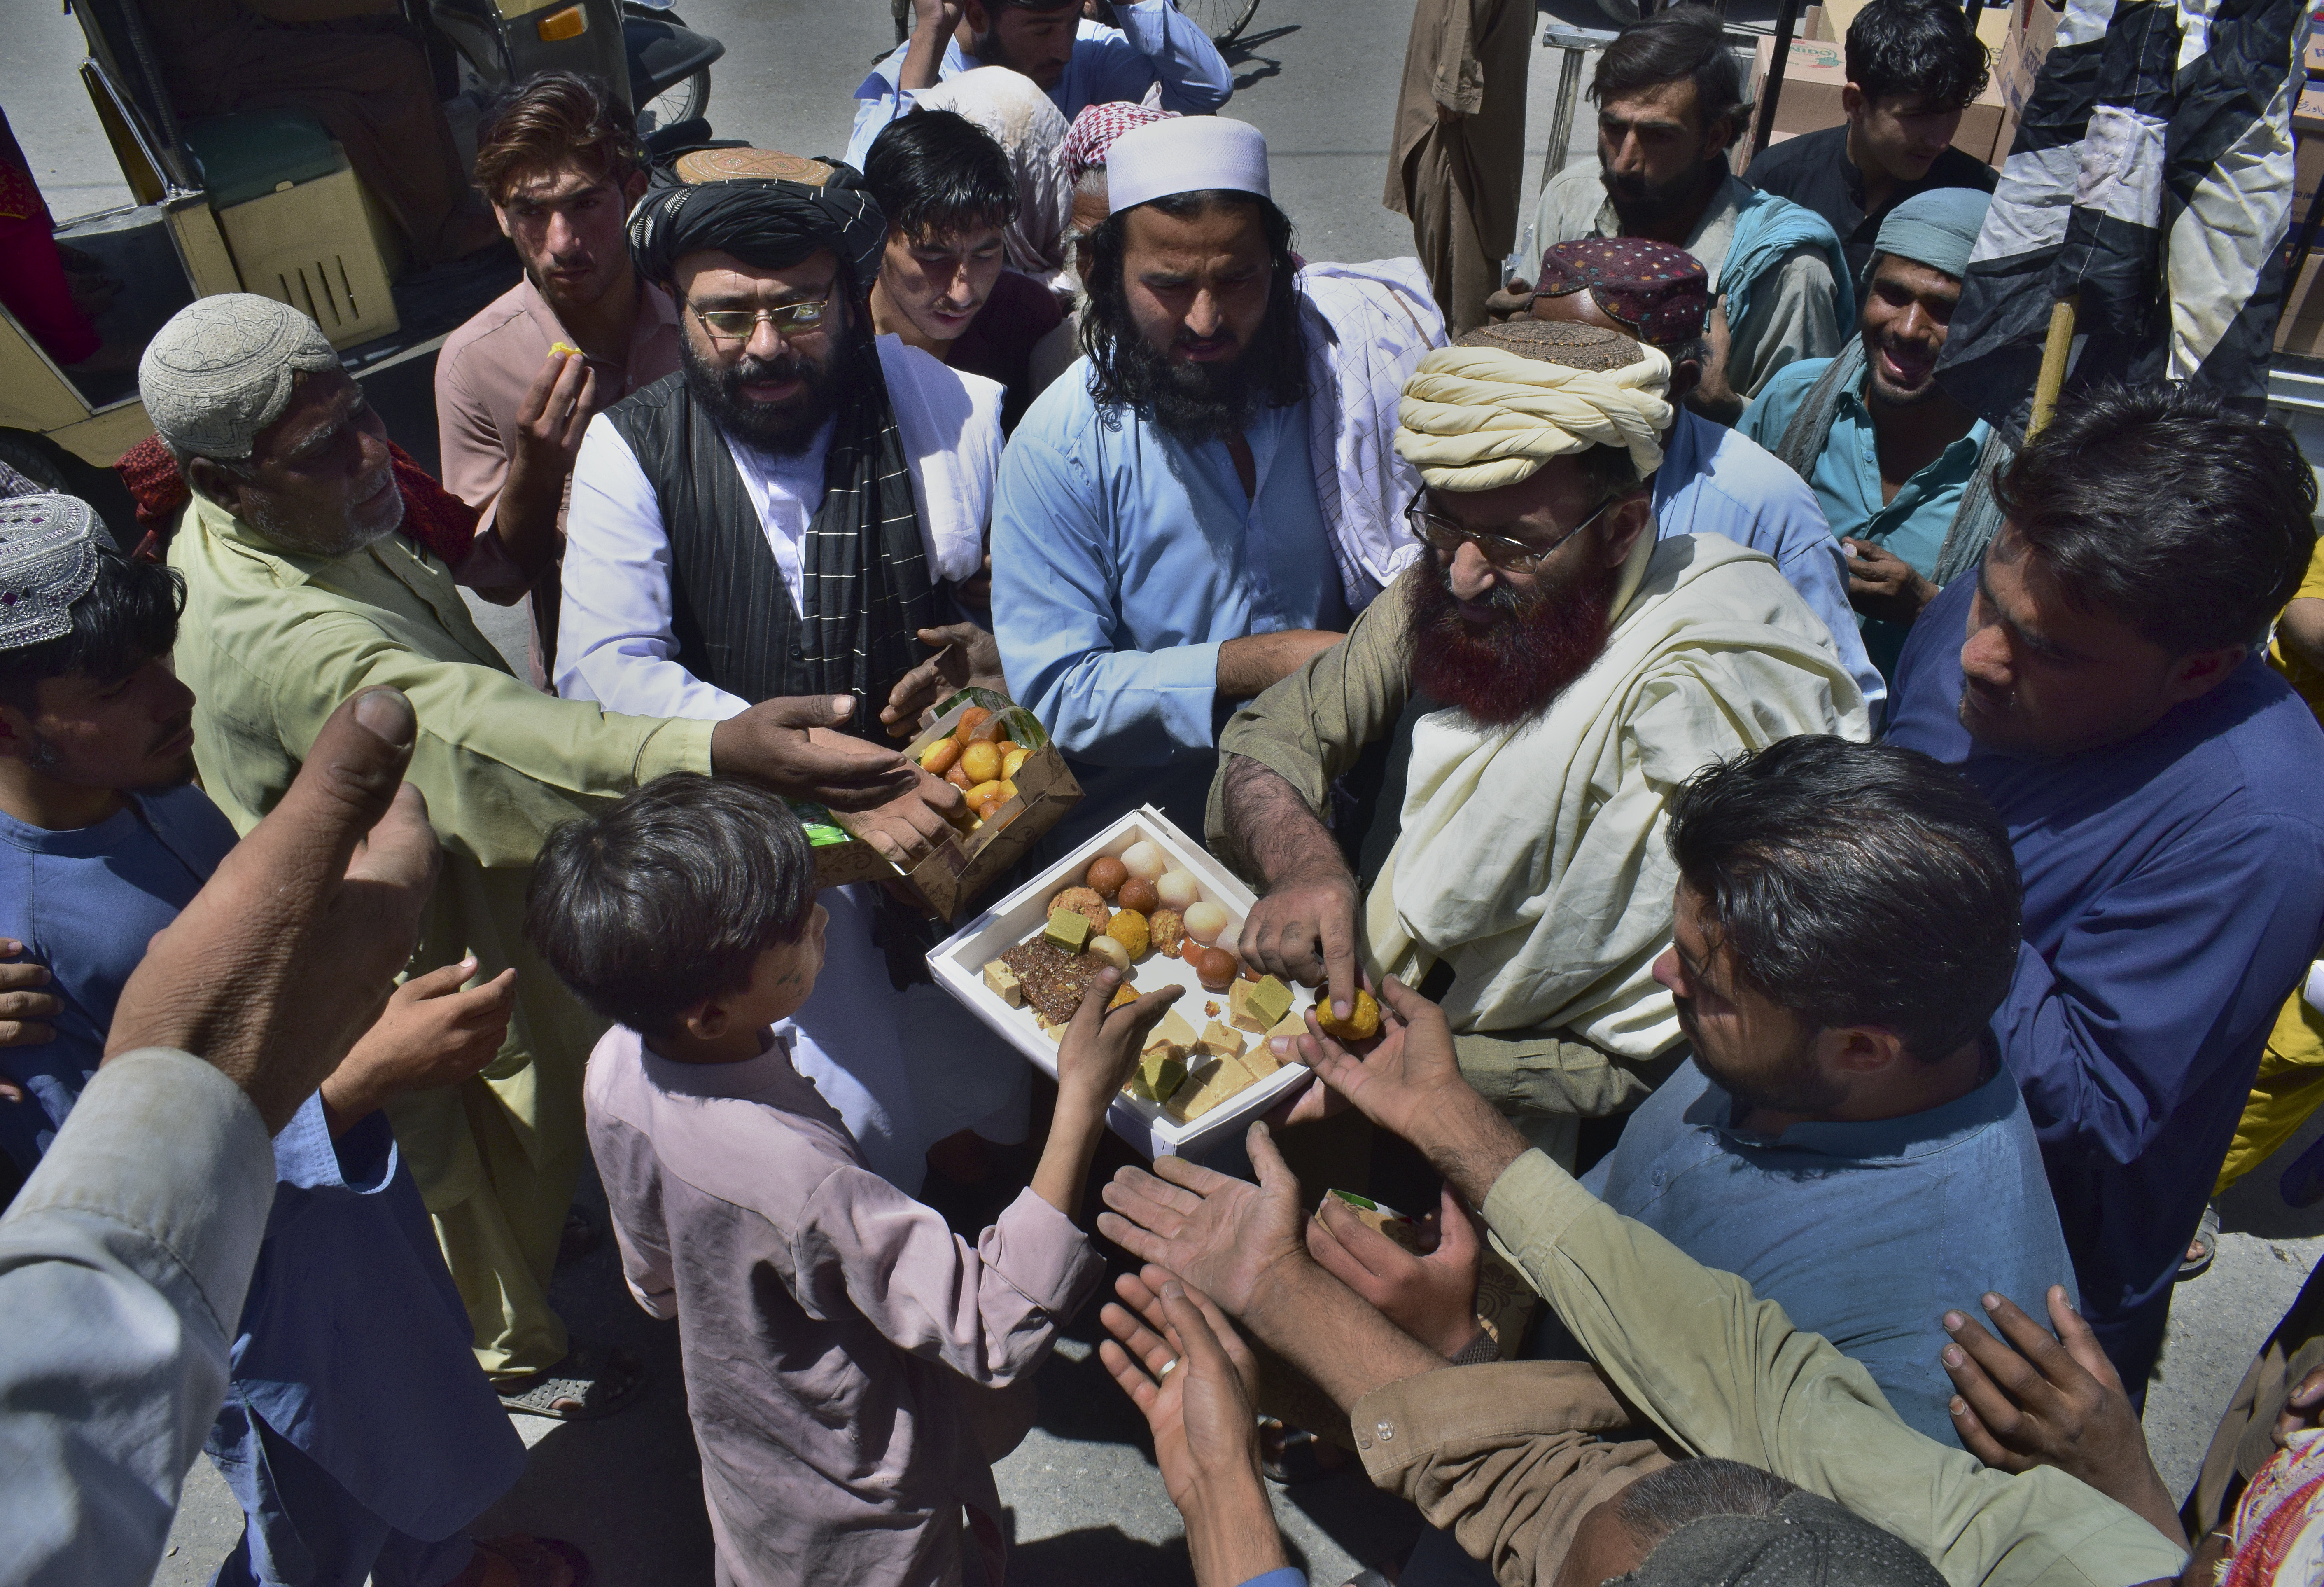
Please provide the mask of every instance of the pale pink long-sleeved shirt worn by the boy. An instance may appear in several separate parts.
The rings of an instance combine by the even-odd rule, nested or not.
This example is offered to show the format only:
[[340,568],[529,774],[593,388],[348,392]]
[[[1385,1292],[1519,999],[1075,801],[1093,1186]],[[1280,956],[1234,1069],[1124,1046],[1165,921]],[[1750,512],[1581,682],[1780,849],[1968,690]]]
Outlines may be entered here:
[[969,1396],[1048,1359],[1088,1236],[1027,1190],[971,1248],[783,1043],[672,1064],[616,1025],[583,1094],[630,1294],[679,1320],[718,1582],[957,1580],[957,1506],[999,1520]]

